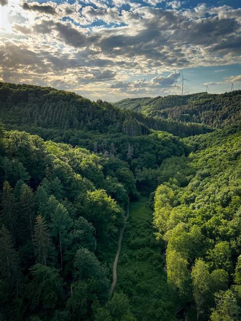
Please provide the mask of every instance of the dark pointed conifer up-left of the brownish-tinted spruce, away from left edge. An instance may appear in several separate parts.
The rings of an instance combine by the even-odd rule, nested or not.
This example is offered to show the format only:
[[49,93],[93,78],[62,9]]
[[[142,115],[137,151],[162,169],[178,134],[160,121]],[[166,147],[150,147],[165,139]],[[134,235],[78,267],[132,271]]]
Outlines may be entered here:
[[23,218],[26,226],[23,226],[24,229],[28,229],[34,243],[34,217],[35,217],[35,200],[34,192],[26,184],[22,186],[22,193],[20,196],[20,214]]

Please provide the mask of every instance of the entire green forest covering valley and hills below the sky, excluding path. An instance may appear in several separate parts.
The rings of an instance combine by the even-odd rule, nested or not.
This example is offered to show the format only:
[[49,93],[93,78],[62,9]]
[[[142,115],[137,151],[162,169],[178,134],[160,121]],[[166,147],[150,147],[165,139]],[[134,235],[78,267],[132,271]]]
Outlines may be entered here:
[[1,82],[0,119],[1,321],[240,320],[240,91]]

